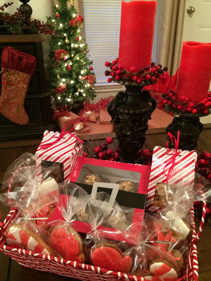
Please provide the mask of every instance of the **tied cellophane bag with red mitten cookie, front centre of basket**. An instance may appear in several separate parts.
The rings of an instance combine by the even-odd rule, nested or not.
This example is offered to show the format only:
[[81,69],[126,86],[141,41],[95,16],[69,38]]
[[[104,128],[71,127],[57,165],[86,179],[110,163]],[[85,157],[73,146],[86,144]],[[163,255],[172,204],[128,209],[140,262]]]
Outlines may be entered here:
[[[95,197],[91,196],[80,214],[79,219],[90,228],[84,238],[90,264],[115,271],[117,261],[122,253],[128,249],[128,245],[118,231],[112,229],[110,224],[110,228],[108,228],[107,222],[112,217],[123,221],[124,213],[120,206],[107,193],[97,192]],[[128,267],[127,258],[125,266]]]

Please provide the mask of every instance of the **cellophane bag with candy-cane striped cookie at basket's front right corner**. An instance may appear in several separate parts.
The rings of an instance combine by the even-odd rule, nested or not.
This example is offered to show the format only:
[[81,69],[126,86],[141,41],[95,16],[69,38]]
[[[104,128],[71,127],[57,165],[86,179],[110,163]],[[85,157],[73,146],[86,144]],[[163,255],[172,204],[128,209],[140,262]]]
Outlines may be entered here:
[[[116,271],[119,271],[121,268],[123,273],[143,276],[146,280],[176,281],[180,276],[179,266],[171,255],[152,245],[156,243],[156,233],[154,233],[151,225],[148,227],[149,221],[146,219],[143,221],[142,216],[139,218],[139,214],[136,214],[136,219],[134,220],[133,218],[133,222],[129,227],[128,222],[131,222],[130,215],[126,215],[124,221],[125,224],[118,220],[111,221],[111,225],[130,244],[130,248],[118,260]],[[171,245],[173,242],[159,241],[160,243]],[[128,262],[127,267],[125,265],[122,266],[125,260]]]

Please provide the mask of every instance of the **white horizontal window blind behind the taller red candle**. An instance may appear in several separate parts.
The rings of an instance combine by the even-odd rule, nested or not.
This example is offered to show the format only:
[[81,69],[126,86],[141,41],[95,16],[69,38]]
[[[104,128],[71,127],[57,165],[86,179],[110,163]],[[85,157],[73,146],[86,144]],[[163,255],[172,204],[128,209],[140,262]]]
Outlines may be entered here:
[[[132,0],[125,0],[130,2]],[[155,60],[157,46],[157,22],[159,0],[157,0],[155,34],[152,59]],[[108,85],[105,77],[105,61],[112,61],[119,54],[121,0],[83,0],[85,36],[89,58],[93,60],[96,84]],[[110,83],[111,85],[112,83]]]

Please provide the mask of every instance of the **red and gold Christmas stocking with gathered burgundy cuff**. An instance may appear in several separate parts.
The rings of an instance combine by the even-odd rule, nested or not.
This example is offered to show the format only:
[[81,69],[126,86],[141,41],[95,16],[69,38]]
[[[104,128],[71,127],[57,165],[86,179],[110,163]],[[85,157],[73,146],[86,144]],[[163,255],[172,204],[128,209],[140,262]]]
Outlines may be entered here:
[[19,125],[29,123],[24,101],[36,65],[37,60],[34,56],[11,47],[5,47],[3,50],[0,113]]

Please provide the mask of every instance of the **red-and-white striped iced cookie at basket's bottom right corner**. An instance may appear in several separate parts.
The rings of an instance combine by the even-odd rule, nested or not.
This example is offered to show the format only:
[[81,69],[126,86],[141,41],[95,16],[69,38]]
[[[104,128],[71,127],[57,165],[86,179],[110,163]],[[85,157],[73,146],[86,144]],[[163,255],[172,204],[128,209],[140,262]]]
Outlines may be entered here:
[[176,281],[178,279],[176,268],[167,261],[164,260],[155,260],[150,265],[150,272],[153,276],[145,276],[146,280],[155,280],[154,276],[157,278],[156,280],[160,281]]

